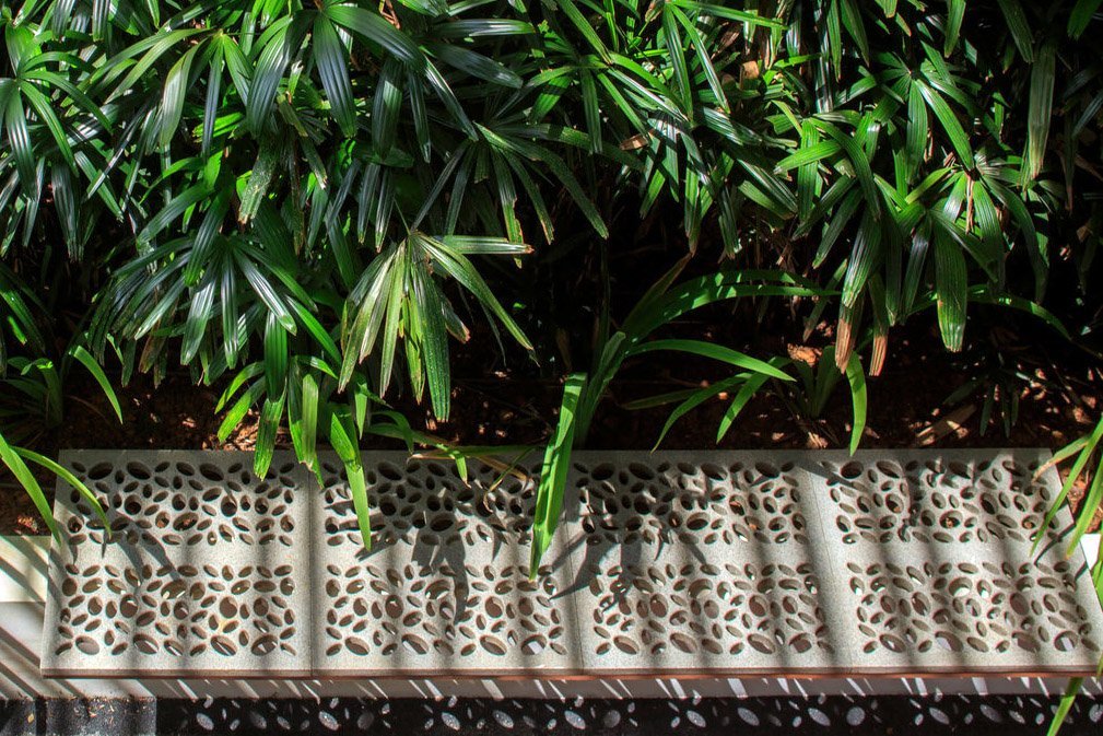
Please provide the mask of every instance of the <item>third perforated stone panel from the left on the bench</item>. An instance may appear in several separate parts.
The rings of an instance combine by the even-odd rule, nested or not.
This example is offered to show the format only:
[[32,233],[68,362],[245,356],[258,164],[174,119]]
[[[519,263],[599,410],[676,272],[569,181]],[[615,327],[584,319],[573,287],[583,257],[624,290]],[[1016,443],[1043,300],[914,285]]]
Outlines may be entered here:
[[831,670],[811,479],[793,454],[588,454],[568,483],[588,671]]

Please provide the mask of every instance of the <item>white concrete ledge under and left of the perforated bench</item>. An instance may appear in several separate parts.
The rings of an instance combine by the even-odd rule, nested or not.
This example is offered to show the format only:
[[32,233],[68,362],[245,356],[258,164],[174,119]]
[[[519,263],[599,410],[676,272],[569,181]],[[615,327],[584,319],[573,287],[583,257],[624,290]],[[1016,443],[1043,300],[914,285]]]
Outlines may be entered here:
[[[1084,540],[1097,547],[1097,535]],[[347,680],[46,679],[39,652],[45,615],[50,537],[0,537],[0,698],[329,698],[481,697],[571,700],[815,696],[1059,695],[1063,678],[746,678],[692,680]],[[1085,550],[1086,552],[1086,550]],[[1103,695],[1091,680],[1084,693]]]

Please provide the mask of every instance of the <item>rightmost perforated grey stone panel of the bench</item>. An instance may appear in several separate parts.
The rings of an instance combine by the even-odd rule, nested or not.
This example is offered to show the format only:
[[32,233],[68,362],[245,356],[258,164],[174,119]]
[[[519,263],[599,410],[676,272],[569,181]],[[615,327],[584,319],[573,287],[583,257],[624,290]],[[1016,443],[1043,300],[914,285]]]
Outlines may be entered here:
[[[1049,452],[911,450],[812,456],[821,523],[869,672],[1090,670],[1103,619]],[[1079,580],[1079,583],[1078,583]]]

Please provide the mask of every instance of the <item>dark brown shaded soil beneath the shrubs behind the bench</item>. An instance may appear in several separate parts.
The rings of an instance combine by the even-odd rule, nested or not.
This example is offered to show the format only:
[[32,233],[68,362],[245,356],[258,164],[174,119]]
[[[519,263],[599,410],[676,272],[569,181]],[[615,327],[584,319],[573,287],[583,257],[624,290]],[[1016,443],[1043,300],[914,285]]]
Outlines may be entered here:
[[[806,340],[799,332],[786,334],[785,329],[759,330],[751,339],[739,340],[732,334],[739,331],[738,326],[724,327],[727,323],[721,314],[706,317],[715,321],[694,324],[694,333],[722,344],[743,343],[752,354],[784,351],[794,359],[815,362],[821,349],[832,342],[827,324],[820,326]],[[558,410],[561,383],[555,376],[542,375],[538,367],[517,356],[511,356],[505,365],[488,359],[488,344],[493,342],[472,340],[454,351],[452,415],[448,422],[433,420],[428,409],[409,396],[388,395],[388,399],[415,427],[450,442],[515,445],[545,440]],[[981,431],[983,395],[970,395],[953,405],[945,403],[959,386],[977,375],[978,365],[986,365],[993,344],[1000,346],[1002,354],[1011,355],[1015,370],[1030,378],[1015,384],[1018,419],[1006,436],[998,417],[985,433]],[[681,387],[707,385],[728,375],[706,360],[656,355],[660,358],[646,363],[625,365],[595,419],[588,448],[650,449],[674,405],[633,410],[625,408],[627,403]],[[1017,333],[1006,324],[982,334],[965,355],[952,355],[942,346],[932,324],[917,323],[892,334],[881,375],[869,378],[869,415],[863,447],[1060,448],[1084,434],[1099,416],[1101,380],[1093,364],[1067,343]],[[66,404],[64,426],[41,438],[40,449],[247,450],[255,444],[256,415],[248,416],[225,442],[218,441],[222,417],[214,409],[219,387],[196,386],[186,373],[170,374],[157,387],[148,376],[132,380],[119,392],[126,418],[121,425],[90,381],[77,378],[68,388],[74,398]],[[832,448],[845,447],[849,438],[852,412],[845,381],[836,386],[821,418],[814,419],[805,418],[796,408],[790,387],[770,385],[750,402],[717,445],[717,426],[728,406],[724,398],[730,396],[721,395],[683,417],[662,447]],[[278,445],[289,448],[289,438],[280,436]],[[394,440],[371,436],[362,446],[401,447]],[[44,524],[28,495],[10,478],[4,480],[0,484],[0,533],[44,533]],[[52,486],[52,480],[43,479],[44,488]],[[1074,490],[1074,504],[1082,492],[1082,488]]]

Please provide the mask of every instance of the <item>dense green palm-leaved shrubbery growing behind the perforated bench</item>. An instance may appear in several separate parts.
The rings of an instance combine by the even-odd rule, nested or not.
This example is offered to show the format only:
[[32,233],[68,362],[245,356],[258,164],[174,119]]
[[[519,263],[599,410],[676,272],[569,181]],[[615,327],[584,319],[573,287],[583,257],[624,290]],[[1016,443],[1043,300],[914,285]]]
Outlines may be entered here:
[[[223,392],[224,435],[259,410],[258,469],[281,427],[308,463],[332,445],[366,520],[358,442],[428,439],[385,402],[404,393],[447,417],[451,342],[527,353],[548,377],[570,364],[540,540],[556,471],[629,359],[730,365],[719,387],[666,397],[684,402],[676,418],[730,394],[721,435],[770,377],[802,378],[803,405],[822,410],[823,366],[651,339],[704,305],[834,323],[826,361],[848,377],[855,442],[865,376],[907,320],[936,321],[959,351],[975,306],[995,306],[1095,349],[1100,0],[26,0],[0,13],[13,419],[0,455],[43,509],[25,462],[53,466],[25,446],[63,420],[76,367],[114,397],[135,372],[186,366]],[[641,238],[658,256],[619,257]],[[618,279],[639,303],[612,303]],[[995,390],[975,390],[990,413]]]

